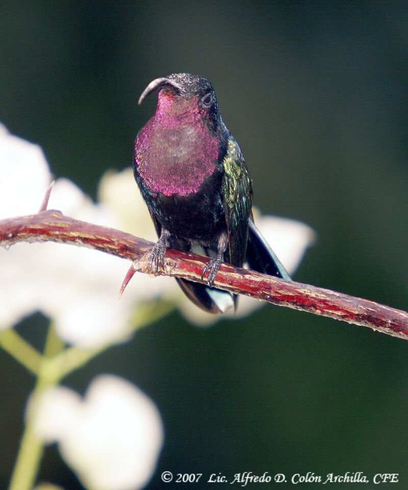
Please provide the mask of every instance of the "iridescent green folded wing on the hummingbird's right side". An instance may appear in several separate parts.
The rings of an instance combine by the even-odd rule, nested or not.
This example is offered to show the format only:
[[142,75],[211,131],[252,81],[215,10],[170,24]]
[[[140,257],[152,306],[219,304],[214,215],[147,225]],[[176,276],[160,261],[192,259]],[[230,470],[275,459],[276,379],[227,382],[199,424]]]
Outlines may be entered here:
[[232,136],[228,139],[223,166],[223,199],[230,263],[240,267],[245,262],[248,243],[252,181],[238,143]]

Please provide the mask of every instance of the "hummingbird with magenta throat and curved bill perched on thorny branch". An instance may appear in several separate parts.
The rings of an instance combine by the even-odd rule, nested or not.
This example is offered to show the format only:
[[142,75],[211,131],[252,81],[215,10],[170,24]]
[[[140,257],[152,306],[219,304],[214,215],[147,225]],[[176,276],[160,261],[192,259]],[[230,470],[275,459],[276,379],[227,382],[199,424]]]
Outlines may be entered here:
[[155,115],[139,131],[133,164],[159,240],[150,268],[163,266],[166,247],[208,257],[206,284],[177,279],[200,308],[224,312],[236,295],[213,288],[221,262],[290,280],[253,223],[252,181],[238,143],[224,125],[211,83],[187,73],[150,82],[139,105],[159,89]]

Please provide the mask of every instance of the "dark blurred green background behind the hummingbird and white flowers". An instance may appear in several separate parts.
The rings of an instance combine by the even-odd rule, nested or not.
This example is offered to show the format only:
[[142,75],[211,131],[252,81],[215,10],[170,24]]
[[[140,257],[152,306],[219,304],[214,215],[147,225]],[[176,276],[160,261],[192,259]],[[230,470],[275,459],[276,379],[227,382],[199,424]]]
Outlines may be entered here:
[[[408,309],[408,2],[2,2],[0,43],[0,120],[93,197],[132,163],[147,83],[210,79],[254,203],[318,234],[295,278]],[[34,343],[35,321],[21,327]],[[115,373],[155,400],[149,488],[175,487],[169,470],[399,473],[406,489],[407,361],[403,340],[268,305],[204,330],[174,313],[65,382]],[[6,488],[33,379],[3,352],[0,370]],[[55,447],[40,479],[82,488]]]

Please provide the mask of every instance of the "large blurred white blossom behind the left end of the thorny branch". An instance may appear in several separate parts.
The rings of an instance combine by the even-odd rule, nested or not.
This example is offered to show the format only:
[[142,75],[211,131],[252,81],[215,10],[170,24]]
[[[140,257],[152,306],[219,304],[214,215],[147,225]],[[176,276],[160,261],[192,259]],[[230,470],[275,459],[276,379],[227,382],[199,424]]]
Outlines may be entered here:
[[[10,135],[1,126],[2,218],[38,212],[51,180],[39,147]],[[57,180],[48,209],[120,227],[114,209],[94,204],[67,179]],[[129,261],[68,244],[16,243],[9,250],[0,248],[0,328],[41,311],[53,318],[59,336],[70,344],[98,347],[124,340],[138,303],[160,297],[164,287],[163,282],[139,274],[119,300],[118,291],[129,266]]]

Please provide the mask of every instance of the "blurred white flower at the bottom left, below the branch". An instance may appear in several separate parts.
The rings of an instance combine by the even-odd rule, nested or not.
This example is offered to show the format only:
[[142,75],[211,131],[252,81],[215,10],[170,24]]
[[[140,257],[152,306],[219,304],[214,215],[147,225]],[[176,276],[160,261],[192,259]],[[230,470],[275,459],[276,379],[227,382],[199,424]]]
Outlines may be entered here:
[[163,445],[159,411],[122,378],[98,376],[83,399],[69,388],[50,388],[35,414],[40,437],[58,443],[65,462],[90,490],[142,488],[155,471]]

